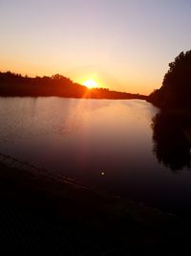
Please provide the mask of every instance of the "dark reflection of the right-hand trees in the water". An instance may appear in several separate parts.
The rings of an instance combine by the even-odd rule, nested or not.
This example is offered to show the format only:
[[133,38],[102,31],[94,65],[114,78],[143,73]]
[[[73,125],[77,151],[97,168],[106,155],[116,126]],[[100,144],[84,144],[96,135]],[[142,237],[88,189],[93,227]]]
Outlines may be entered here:
[[190,114],[160,112],[153,118],[154,153],[159,163],[173,171],[190,168],[190,145],[183,128],[191,127]]

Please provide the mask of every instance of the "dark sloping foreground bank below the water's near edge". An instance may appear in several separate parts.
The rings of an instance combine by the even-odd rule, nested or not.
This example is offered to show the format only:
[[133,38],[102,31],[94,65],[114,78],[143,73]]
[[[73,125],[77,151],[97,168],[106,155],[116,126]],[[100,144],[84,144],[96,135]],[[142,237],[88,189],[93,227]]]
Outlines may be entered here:
[[191,255],[189,221],[0,164],[0,255]]

